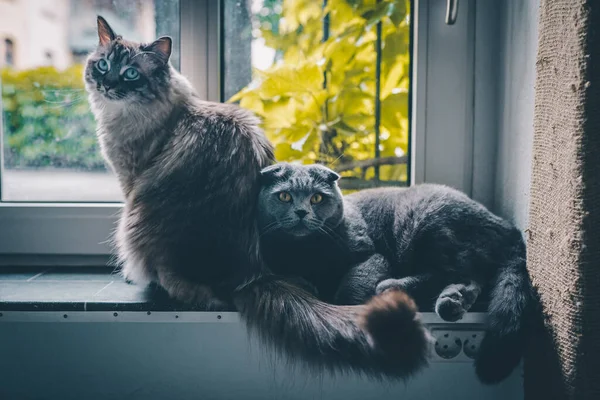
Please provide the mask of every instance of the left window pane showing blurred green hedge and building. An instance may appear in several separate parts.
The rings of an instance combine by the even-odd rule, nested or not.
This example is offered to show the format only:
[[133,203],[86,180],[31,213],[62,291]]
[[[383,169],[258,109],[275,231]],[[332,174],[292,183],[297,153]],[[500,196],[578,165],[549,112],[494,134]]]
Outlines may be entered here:
[[97,15],[125,38],[173,37],[179,68],[178,0],[0,1],[2,200],[121,200],[83,87]]

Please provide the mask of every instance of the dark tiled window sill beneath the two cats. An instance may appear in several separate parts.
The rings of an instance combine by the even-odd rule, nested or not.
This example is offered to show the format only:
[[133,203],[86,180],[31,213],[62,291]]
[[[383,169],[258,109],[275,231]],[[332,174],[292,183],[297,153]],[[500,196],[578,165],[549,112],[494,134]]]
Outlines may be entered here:
[[[478,302],[458,323],[482,324],[485,321],[485,309],[486,304]],[[170,299],[164,291],[156,287],[129,285],[107,267],[2,267],[0,315],[5,312],[6,317],[12,311],[162,314],[154,314],[151,318],[154,322],[156,318],[162,320],[165,317],[166,321],[170,321],[183,315],[187,317],[182,318],[182,321],[185,319],[190,322],[210,322],[215,319],[233,322],[238,319],[235,312],[201,312],[200,309]],[[448,324],[433,313],[433,310],[422,311],[423,322]],[[176,313],[181,315],[174,317]],[[190,317],[192,314],[196,316]],[[133,318],[135,321],[138,319],[137,316]],[[123,318],[119,320],[122,321]]]

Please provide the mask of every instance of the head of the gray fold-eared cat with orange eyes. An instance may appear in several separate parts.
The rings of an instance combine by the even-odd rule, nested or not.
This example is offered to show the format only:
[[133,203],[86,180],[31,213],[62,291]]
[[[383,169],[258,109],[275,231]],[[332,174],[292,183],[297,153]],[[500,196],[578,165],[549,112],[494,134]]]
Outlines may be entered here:
[[262,172],[258,223],[262,235],[327,234],[343,219],[339,176],[321,166],[276,164]]

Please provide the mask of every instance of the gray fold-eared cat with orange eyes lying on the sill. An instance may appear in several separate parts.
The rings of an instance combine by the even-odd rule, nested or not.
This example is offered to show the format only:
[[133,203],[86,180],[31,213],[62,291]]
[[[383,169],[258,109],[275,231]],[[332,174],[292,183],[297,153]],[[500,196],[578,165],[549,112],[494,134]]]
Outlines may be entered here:
[[507,377],[521,359],[532,299],[519,230],[449,187],[342,197],[338,179],[319,165],[262,171],[258,223],[267,265],[328,302],[363,304],[399,289],[447,321],[491,290],[476,371],[486,383]]

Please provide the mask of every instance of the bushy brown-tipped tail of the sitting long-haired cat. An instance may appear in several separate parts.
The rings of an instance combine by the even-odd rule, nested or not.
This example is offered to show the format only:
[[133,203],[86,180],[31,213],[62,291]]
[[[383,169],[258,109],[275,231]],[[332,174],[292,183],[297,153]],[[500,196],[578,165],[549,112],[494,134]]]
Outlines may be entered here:
[[238,290],[235,302],[263,343],[313,372],[403,379],[427,363],[429,333],[402,292],[362,306],[334,306],[285,281],[261,277]]

